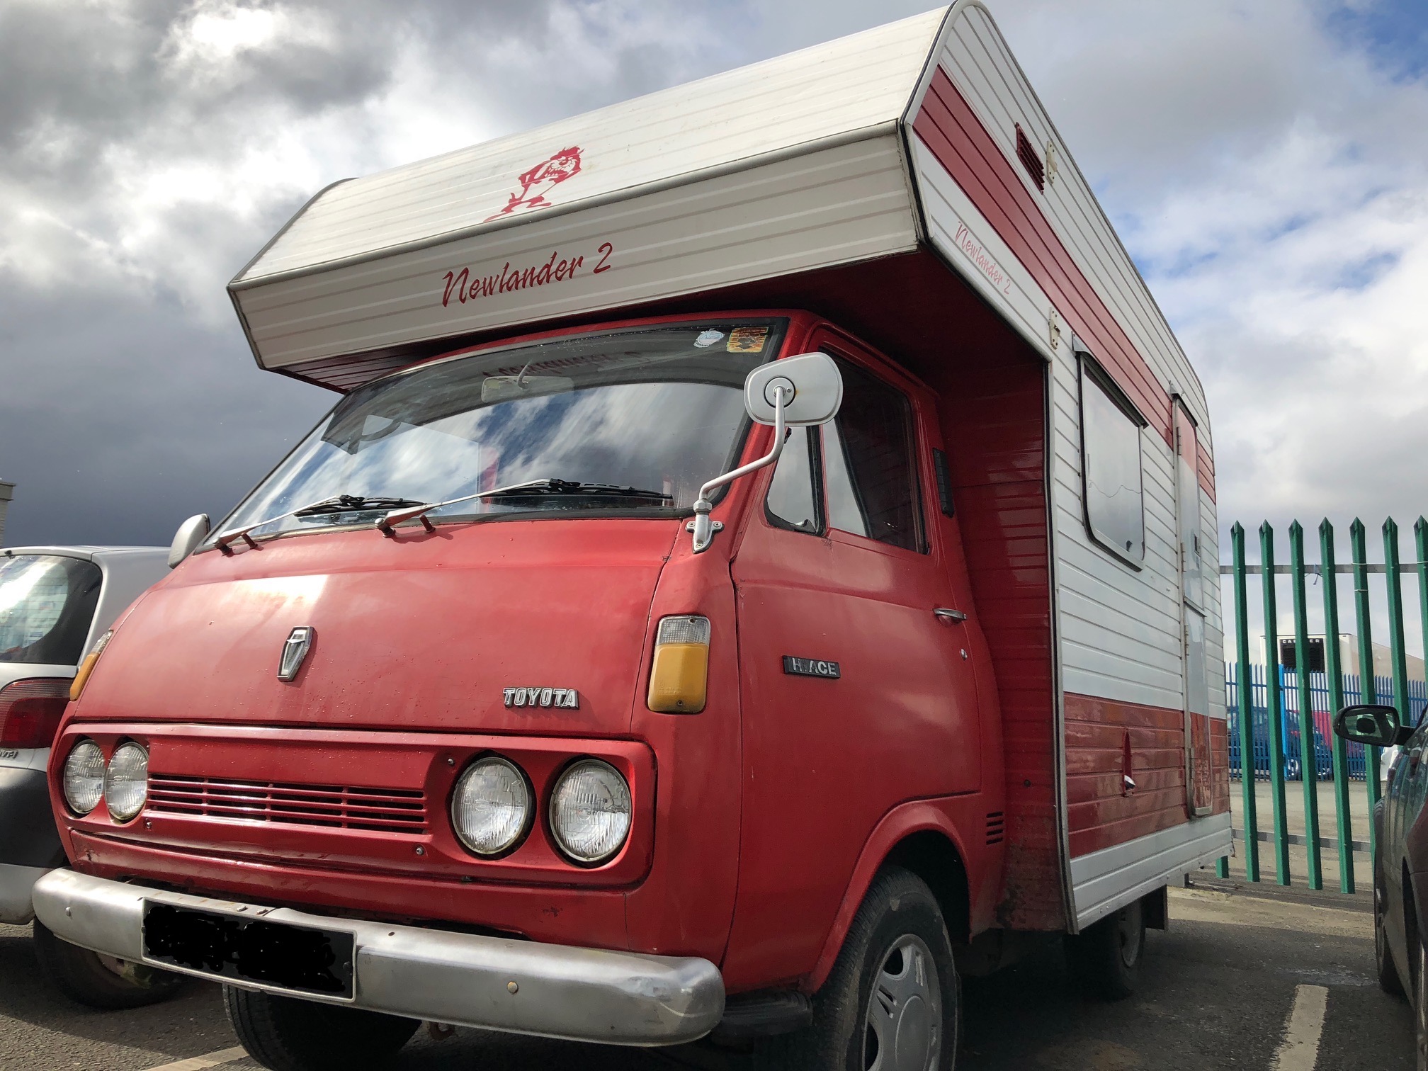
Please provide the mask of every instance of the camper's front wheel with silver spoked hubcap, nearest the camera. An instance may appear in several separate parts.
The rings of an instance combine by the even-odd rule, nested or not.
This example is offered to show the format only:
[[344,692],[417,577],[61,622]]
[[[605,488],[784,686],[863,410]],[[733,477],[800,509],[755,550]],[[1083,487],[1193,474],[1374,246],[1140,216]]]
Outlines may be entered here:
[[961,992],[937,898],[901,867],[874,880],[814,997],[813,1025],[771,1040],[767,1067],[951,1071]]

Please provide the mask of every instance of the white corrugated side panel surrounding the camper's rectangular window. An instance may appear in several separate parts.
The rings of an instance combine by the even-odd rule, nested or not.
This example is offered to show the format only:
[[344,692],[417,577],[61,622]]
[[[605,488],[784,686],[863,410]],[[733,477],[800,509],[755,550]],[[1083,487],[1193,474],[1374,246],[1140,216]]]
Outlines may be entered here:
[[1052,361],[1052,516],[1065,691],[1181,708],[1180,577],[1174,458],[1155,433],[1141,433],[1145,561],[1140,570],[1091,541],[1081,503],[1077,358]]

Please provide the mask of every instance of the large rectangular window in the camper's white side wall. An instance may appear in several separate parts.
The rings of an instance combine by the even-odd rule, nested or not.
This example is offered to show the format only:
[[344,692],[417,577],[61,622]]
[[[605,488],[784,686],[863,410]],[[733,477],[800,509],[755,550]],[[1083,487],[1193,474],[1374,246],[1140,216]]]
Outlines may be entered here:
[[1091,537],[1117,557],[1145,560],[1138,416],[1101,373],[1081,363],[1081,471]]

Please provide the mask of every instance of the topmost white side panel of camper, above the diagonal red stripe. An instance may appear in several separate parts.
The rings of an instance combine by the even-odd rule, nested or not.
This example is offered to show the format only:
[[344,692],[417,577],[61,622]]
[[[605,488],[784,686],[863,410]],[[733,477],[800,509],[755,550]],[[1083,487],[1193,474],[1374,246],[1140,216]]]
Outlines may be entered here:
[[1208,446],[1210,421],[1200,378],[1117,237],[1115,228],[1091,193],[1090,184],[984,9],[971,4],[960,11],[942,51],[941,64],[1008,160],[1017,159],[1017,123],[1040,154],[1045,154],[1048,141],[1055,146],[1057,176],[1055,181],[1047,183],[1045,190],[1037,191],[1021,169],[1017,169],[1018,174],[1027,188],[1041,200],[1057,237],[1075,257],[1161,384],[1167,387],[1174,384],[1185,396],[1187,406],[1201,427],[1202,441]]

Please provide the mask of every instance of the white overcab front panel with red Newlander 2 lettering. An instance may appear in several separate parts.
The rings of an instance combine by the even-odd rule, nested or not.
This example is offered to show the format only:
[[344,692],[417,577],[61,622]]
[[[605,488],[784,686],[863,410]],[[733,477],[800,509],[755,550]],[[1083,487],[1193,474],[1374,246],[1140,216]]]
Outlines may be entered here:
[[[864,141],[280,278],[236,297],[264,366],[276,368],[902,253],[915,243],[890,127]],[[574,274],[560,271],[575,258]]]

